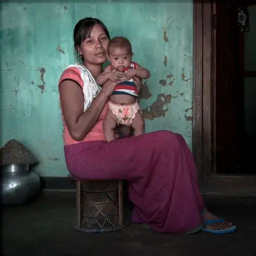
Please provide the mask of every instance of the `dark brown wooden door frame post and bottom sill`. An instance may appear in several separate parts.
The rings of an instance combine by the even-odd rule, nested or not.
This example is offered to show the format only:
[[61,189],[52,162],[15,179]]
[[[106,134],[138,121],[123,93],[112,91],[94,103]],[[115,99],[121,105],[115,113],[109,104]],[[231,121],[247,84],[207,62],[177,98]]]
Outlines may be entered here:
[[256,196],[256,176],[216,173],[213,1],[193,3],[193,154],[202,193]]

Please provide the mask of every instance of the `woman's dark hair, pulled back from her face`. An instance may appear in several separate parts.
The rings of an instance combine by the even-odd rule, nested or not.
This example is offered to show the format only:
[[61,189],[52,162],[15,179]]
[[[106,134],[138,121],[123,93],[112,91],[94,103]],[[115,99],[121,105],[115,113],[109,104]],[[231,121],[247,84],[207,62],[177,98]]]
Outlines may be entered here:
[[106,28],[106,26],[98,19],[96,18],[84,18],[82,20],[80,20],[75,28],[74,28],[74,50],[76,53],[76,57],[79,61],[84,61],[83,56],[79,56],[79,53],[77,52],[77,46],[81,46],[82,42],[90,36],[91,34],[91,30],[94,27],[94,25],[100,25],[102,27],[102,29],[104,30],[104,32],[106,33],[106,36],[108,37],[108,39],[110,40],[110,36],[108,33],[108,30]]

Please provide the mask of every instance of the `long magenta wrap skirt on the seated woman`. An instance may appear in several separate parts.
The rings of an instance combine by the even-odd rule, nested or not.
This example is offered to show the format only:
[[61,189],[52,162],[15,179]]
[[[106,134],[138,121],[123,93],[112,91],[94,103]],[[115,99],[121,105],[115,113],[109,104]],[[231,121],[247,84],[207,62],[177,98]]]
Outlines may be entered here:
[[127,180],[135,204],[132,221],[158,232],[195,232],[205,205],[193,155],[179,134],[169,131],[64,147],[70,174],[88,180]]

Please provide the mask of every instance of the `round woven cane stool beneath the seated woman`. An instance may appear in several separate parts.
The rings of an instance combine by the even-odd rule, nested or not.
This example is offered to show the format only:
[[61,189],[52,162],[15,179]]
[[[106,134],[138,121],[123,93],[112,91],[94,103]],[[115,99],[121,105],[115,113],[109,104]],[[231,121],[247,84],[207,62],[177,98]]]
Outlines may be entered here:
[[129,225],[123,221],[122,181],[69,178],[76,181],[76,230],[110,232]]

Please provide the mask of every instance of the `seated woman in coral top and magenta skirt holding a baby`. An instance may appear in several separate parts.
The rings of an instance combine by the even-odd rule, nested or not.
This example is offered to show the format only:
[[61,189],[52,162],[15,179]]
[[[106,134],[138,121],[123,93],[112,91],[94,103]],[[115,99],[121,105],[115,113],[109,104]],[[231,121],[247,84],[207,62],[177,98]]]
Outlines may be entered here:
[[100,90],[95,79],[106,61],[108,41],[108,31],[97,19],[85,18],[74,28],[74,48],[82,65],[68,66],[59,80],[69,172],[88,180],[127,180],[135,204],[132,221],[156,231],[234,231],[235,226],[206,210],[193,156],[181,135],[159,131],[105,141],[102,123],[116,84],[108,81]]

